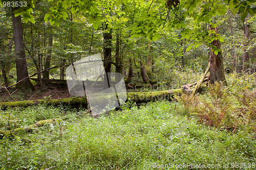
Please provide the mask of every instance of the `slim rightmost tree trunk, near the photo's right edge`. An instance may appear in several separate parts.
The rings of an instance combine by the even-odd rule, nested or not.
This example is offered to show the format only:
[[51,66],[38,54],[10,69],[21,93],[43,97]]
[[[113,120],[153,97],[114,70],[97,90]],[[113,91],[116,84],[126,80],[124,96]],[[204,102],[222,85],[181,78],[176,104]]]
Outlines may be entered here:
[[247,72],[249,68],[249,53],[247,52],[248,40],[249,40],[249,23],[247,22],[249,14],[247,14],[244,20],[244,55],[243,55],[243,71]]

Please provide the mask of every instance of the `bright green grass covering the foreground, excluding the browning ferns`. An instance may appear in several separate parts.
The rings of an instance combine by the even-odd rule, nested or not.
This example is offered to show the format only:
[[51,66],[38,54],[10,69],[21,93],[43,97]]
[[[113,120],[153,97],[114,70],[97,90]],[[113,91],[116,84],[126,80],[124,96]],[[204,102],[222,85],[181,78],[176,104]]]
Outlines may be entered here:
[[[177,107],[175,103],[166,101],[140,108],[132,106],[124,106],[122,111],[98,118],[90,117],[83,110],[67,111],[44,106],[0,111],[1,130],[6,129],[6,115],[12,116],[11,128],[28,126],[42,119],[63,118],[63,122],[45,125],[35,133],[19,134],[30,139],[31,143],[26,144],[19,138],[1,140],[0,167],[168,169],[168,164],[169,169],[176,169],[171,165],[223,166],[235,162],[246,165],[256,162],[253,132],[243,129],[231,133],[204,126],[197,122],[196,117],[184,115],[183,106],[179,103]],[[229,164],[226,169],[236,168]]]

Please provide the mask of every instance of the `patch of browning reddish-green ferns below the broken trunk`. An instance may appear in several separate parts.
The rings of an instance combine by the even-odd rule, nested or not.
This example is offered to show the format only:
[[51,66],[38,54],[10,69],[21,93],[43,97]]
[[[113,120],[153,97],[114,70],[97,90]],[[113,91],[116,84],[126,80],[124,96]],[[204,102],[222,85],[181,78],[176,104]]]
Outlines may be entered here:
[[182,95],[179,99],[190,114],[205,124],[226,129],[255,128],[255,75],[231,74],[229,87],[215,84],[201,96]]

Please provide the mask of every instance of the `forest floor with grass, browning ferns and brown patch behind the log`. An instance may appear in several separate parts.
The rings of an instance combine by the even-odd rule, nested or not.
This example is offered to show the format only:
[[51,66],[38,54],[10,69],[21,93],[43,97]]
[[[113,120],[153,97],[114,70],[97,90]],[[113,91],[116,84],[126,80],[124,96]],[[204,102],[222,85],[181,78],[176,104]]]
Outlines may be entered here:
[[[227,80],[173,102],[128,101],[96,117],[44,103],[0,109],[0,169],[255,169],[256,76]],[[12,96],[21,93],[16,99],[69,97],[56,87]]]

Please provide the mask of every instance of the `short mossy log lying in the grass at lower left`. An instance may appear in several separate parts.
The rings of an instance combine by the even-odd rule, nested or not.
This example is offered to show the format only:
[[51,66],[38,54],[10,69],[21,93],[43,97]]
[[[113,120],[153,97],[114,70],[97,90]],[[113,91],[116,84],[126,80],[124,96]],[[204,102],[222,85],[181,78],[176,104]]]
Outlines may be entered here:
[[[8,136],[8,137],[15,137],[15,133],[18,133],[18,132],[31,132],[33,131],[33,129],[35,128],[39,128],[41,126],[44,126],[46,123],[54,123],[56,122],[57,120],[59,119],[47,119],[47,120],[41,120],[39,122],[37,122],[36,124],[33,124],[33,125],[30,125],[29,127],[27,128],[17,128],[17,129],[14,129],[14,130],[10,130],[10,131],[2,131],[0,130],[0,134],[3,134],[5,136]],[[1,138],[1,136],[0,136]]]

